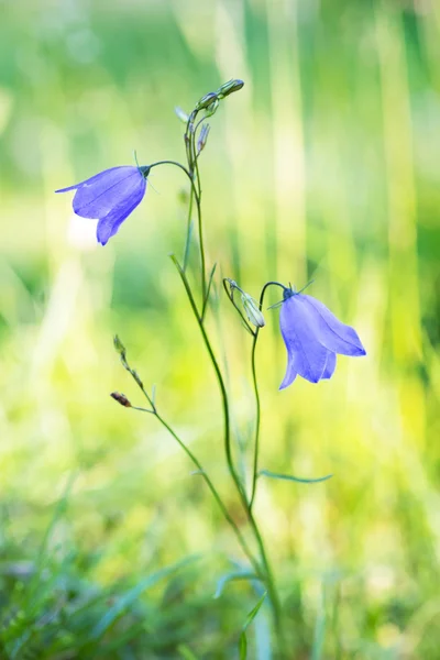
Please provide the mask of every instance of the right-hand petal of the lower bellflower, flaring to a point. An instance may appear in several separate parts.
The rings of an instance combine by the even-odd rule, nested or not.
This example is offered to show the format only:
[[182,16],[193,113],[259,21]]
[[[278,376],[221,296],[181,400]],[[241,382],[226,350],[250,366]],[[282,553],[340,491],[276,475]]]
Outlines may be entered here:
[[323,305],[312,296],[298,294],[304,307],[312,315],[312,327],[318,341],[332,353],[342,355],[365,355],[365,349],[354,328],[345,326]]

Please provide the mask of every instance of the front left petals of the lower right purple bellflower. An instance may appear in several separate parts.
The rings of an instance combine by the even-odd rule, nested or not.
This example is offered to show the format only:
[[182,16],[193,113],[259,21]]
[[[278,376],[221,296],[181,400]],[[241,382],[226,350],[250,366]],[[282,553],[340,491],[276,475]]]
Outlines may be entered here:
[[328,351],[315,336],[314,317],[298,298],[298,295],[287,298],[279,312],[279,327],[288,356],[282,388],[294,381],[294,373],[310,383],[318,383],[327,363]]

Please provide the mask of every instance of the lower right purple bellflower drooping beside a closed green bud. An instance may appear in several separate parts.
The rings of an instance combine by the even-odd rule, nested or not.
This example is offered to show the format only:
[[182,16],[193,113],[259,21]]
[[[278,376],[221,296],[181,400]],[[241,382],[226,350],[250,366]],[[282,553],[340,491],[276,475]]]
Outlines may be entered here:
[[287,371],[279,389],[297,375],[310,383],[331,378],[337,353],[358,358],[365,349],[358,332],[345,326],[312,296],[284,289],[279,328],[287,349]]

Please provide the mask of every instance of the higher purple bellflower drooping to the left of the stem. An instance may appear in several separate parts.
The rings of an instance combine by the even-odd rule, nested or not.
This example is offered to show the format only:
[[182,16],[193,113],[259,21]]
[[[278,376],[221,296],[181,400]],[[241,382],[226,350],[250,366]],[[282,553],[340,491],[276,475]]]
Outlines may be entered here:
[[55,193],[76,190],[73,201],[75,213],[81,218],[99,220],[97,239],[101,245],[106,245],[125,218],[141,204],[148,173],[148,166],[110,167],[80,184]]

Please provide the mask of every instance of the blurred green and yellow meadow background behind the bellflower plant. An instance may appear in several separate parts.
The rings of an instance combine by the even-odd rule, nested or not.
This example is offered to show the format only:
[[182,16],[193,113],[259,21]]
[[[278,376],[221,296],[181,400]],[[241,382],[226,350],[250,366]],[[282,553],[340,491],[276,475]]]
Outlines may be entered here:
[[[290,657],[439,658],[438,2],[0,10],[0,657],[238,657],[257,596],[240,582],[213,598],[244,564],[235,539],[156,420],[109,397],[142,405],[118,332],[241,520],[217,384],[168,258],[183,251],[186,182],[155,169],[105,249],[54,190],[132,164],[134,148],[141,164],[184,161],[173,108],[239,77],[202,154],[209,261],[254,296],[315,277],[309,293],[367,350],[280,393],[278,311],[266,312],[262,466],[333,473],[260,485]],[[250,338],[219,282],[209,327],[249,460]],[[263,608],[251,658],[271,658],[268,626]]]

